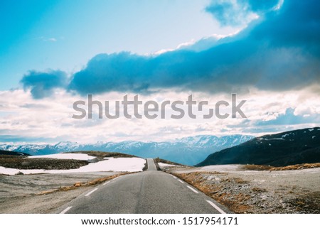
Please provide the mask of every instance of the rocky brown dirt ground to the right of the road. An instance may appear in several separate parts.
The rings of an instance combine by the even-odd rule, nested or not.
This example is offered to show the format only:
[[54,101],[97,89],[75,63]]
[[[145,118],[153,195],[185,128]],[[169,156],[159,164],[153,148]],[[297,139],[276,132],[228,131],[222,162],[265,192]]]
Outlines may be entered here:
[[165,169],[236,213],[320,213],[320,168],[245,170],[245,165]]

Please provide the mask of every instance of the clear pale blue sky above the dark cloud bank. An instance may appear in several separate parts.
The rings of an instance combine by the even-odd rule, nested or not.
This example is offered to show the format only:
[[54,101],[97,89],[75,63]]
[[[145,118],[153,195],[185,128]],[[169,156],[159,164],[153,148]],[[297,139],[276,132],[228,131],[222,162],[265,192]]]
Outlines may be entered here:
[[219,26],[208,1],[1,1],[0,89],[28,70],[75,72],[99,53],[148,54],[236,28]]

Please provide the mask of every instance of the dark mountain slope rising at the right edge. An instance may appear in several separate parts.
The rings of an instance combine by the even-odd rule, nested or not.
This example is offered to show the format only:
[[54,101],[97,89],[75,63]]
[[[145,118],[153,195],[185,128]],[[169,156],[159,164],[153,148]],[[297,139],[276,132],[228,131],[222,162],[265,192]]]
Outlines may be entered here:
[[294,165],[320,162],[320,127],[265,135],[210,154],[196,166]]

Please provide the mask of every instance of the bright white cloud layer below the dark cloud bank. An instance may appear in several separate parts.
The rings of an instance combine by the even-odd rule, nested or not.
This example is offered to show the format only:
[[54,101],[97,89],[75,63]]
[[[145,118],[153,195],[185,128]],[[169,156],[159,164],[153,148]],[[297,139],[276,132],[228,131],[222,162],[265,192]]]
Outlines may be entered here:
[[[143,102],[147,100],[186,101],[188,92],[162,91],[150,95],[139,95]],[[124,94],[110,92],[94,96],[95,100],[110,101],[114,109],[114,102],[122,100]],[[316,93],[306,91],[292,91],[285,93],[261,92],[251,89],[247,94],[238,94],[238,101],[247,99],[242,110],[247,119],[73,119],[73,102],[87,100],[78,95],[69,94],[63,90],[56,90],[53,97],[33,99],[30,92],[22,89],[0,92],[0,134],[26,138],[51,139],[51,141],[77,141],[89,143],[95,141],[167,141],[183,136],[198,134],[263,134],[270,132],[270,126],[259,126],[261,132],[255,132],[257,121],[270,121],[285,114],[286,110],[294,109],[294,114],[320,115],[320,101]],[[134,94],[128,94],[133,99]],[[230,94],[193,93],[193,99],[200,102],[208,100],[215,104],[225,99],[230,102]],[[186,108],[186,107],[185,107]],[[186,110],[186,109],[185,109]],[[205,109],[206,110],[206,109]],[[97,110],[96,110],[97,111]],[[223,111],[228,111],[224,109]],[[139,111],[141,112],[141,109]],[[97,115],[97,112],[95,112]],[[129,113],[133,114],[132,109]],[[167,114],[170,114],[168,112]],[[314,126],[316,123],[297,125]],[[297,127],[296,126],[296,127]],[[272,126],[277,129],[276,126]],[[279,126],[283,131],[284,127]],[[252,130],[251,130],[252,129]],[[265,130],[264,130],[265,129]],[[281,129],[279,131],[282,131]],[[0,136],[1,137],[1,136]]]

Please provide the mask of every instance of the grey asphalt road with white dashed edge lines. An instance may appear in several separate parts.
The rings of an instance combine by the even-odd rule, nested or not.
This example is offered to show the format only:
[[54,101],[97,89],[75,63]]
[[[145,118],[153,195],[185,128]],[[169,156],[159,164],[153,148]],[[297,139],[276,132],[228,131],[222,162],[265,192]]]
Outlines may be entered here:
[[[123,175],[60,207],[70,214],[220,214],[228,212],[210,197],[182,180],[156,170],[148,158],[148,170]],[[216,209],[217,208],[217,209]]]

